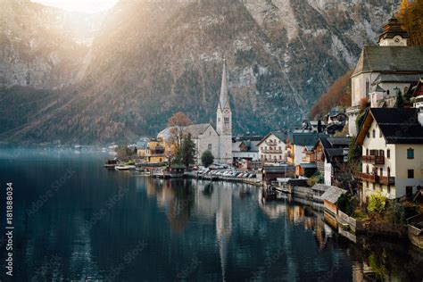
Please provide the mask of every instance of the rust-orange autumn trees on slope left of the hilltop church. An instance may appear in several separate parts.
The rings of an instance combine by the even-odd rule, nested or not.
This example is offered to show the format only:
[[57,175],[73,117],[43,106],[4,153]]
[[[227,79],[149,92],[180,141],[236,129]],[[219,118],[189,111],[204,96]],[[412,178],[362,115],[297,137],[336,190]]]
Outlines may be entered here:
[[310,111],[311,119],[324,116],[335,106],[351,106],[351,75],[352,71],[346,72],[342,77],[336,79],[328,92],[321,95]]

